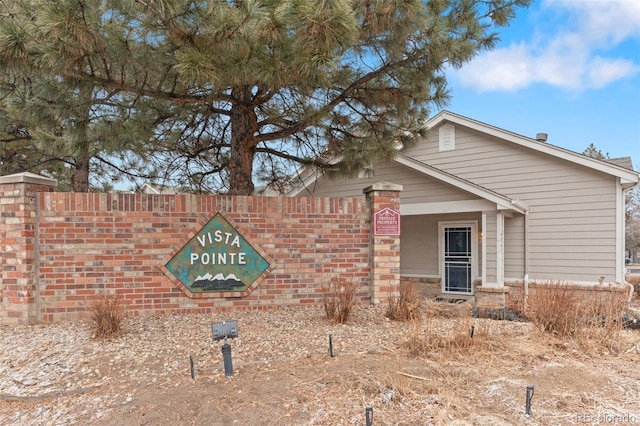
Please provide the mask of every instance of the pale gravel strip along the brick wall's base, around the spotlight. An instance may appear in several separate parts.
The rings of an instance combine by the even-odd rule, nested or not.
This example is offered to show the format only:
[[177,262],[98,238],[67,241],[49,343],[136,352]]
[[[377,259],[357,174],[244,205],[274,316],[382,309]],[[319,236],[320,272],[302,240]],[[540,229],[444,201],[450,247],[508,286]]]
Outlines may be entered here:
[[213,341],[211,324],[231,319],[238,321],[240,337],[229,340],[236,370],[328,354],[330,334],[336,356],[379,351],[403,328],[370,307],[358,308],[346,325],[327,322],[317,308],[136,317],[112,340],[92,338],[89,321],[0,326],[0,401],[73,396],[77,402],[9,414],[0,410],[0,424],[99,419],[104,407],[133,399],[122,383],[178,386],[191,380],[190,357],[194,375],[222,377],[222,342]]

